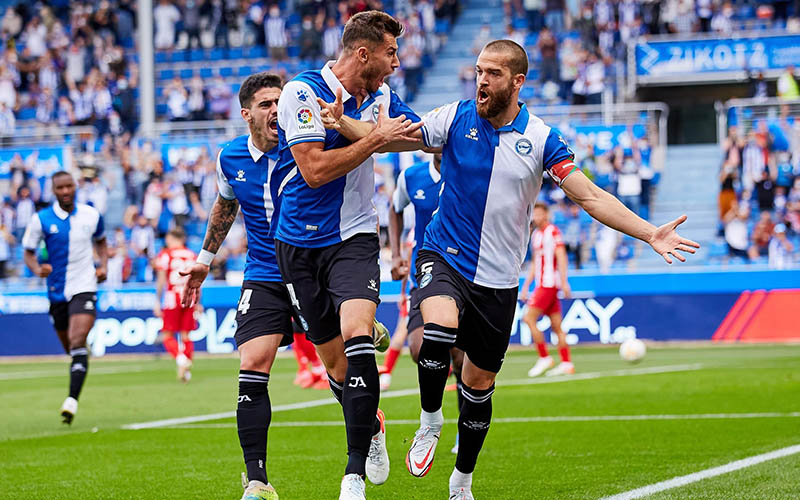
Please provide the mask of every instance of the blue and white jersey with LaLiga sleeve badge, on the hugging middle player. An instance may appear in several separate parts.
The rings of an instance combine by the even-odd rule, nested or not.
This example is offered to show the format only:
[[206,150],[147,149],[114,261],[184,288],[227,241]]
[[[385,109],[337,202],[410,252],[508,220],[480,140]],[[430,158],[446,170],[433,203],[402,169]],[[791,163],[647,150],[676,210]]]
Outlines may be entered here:
[[378,226],[372,203],[375,193],[372,158],[347,175],[316,189],[306,184],[297,169],[289,149],[295,144],[322,142],[326,150],[350,145],[350,141],[335,130],[325,130],[317,97],[333,102],[336,90],[341,88],[346,116],[374,123],[378,119],[378,106],[383,104],[384,112],[390,117],[405,114],[419,121],[386,84],[356,107],[356,98],[344,89],[331,65],[332,62],[328,62],[320,71],[304,71],[294,77],[284,86],[278,101],[279,168],[288,172],[288,181],[275,237],[298,247],[330,246],[359,233],[375,233]]

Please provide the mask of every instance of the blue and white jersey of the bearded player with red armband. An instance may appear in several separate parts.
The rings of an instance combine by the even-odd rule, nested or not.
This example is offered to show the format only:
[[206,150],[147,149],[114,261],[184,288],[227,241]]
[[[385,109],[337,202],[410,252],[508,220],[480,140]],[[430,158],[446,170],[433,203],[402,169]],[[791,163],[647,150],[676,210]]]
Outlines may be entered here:
[[425,144],[442,147],[444,186],[422,248],[477,285],[518,286],[542,175],[560,185],[575,169],[572,151],[524,104],[498,130],[478,116],[474,100],[437,108],[423,121]]

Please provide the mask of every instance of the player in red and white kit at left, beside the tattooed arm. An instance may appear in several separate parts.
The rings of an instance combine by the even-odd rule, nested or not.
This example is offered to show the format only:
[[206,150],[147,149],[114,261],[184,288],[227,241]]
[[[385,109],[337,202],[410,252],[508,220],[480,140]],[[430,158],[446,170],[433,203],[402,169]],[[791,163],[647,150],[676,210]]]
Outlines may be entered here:
[[[189,332],[197,328],[195,313],[201,312],[199,300],[192,307],[181,307],[180,293],[188,279],[179,273],[194,264],[197,256],[186,248],[186,233],[181,228],[171,229],[164,238],[167,246],[156,257],[156,305],[153,314],[164,321],[161,331],[164,348],[178,365],[178,378],[188,382],[192,378],[192,354],[194,345]],[[181,345],[175,338],[181,335]]]

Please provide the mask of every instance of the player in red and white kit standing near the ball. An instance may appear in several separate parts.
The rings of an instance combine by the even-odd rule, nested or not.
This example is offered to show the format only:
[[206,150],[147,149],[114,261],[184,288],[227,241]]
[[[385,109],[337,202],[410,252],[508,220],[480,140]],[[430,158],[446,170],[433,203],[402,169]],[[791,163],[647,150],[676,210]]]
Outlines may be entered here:
[[528,310],[523,320],[531,329],[533,341],[539,351],[539,360],[528,371],[528,376],[538,377],[553,368],[554,364],[553,358],[547,352],[544,333],[536,327],[536,322],[542,314],[550,318],[550,327],[558,336],[558,352],[561,354],[561,364],[547,374],[571,375],[575,373],[575,366],[569,356],[567,334],[561,329],[561,302],[558,300],[559,289],[564,292],[565,298],[570,297],[567,282],[567,250],[561,239],[561,231],[550,222],[550,211],[544,203],[536,203],[533,208],[533,226],[535,228],[531,237],[533,265],[525,284],[522,285],[522,300],[527,298],[528,289],[535,279],[536,288],[528,299]]

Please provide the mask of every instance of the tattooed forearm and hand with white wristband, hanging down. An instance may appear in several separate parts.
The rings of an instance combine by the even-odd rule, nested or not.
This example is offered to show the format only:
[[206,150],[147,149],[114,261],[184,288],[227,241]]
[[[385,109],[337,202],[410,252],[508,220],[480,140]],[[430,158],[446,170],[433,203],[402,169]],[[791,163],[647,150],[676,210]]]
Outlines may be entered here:
[[[239,212],[239,202],[236,199],[228,200],[222,196],[217,196],[214,206],[211,207],[211,216],[208,219],[206,237],[203,240],[203,250],[211,254],[216,254],[228,236],[236,214]],[[209,266],[195,262],[192,267],[180,271],[181,276],[188,276],[189,279],[181,290],[181,305],[190,307],[200,298],[200,287],[208,276]]]

